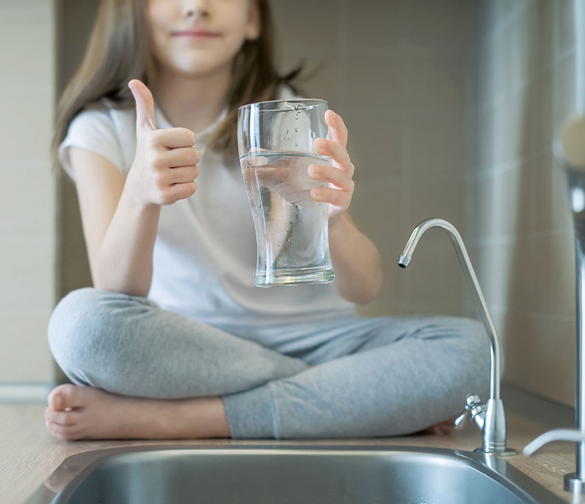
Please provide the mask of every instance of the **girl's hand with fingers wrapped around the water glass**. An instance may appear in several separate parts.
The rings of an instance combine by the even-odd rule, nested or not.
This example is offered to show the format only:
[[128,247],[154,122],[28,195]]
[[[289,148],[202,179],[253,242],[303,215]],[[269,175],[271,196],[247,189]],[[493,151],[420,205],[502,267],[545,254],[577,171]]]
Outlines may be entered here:
[[313,180],[330,183],[329,187],[312,188],[310,195],[315,201],[329,203],[331,227],[349,207],[355,185],[352,180],[355,167],[346,151],[348,130],[343,119],[333,110],[327,110],[325,121],[329,126],[327,139],[315,138],[313,148],[315,153],[329,156],[333,166],[310,164],[307,171]]

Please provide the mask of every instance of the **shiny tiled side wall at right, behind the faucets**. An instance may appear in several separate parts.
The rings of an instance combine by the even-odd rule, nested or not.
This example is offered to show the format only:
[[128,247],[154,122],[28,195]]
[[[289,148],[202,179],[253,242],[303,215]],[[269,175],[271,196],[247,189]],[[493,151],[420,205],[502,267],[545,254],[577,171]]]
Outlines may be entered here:
[[573,1],[484,0],[478,14],[470,255],[504,339],[506,380],[573,405],[573,235],[551,151],[575,104]]

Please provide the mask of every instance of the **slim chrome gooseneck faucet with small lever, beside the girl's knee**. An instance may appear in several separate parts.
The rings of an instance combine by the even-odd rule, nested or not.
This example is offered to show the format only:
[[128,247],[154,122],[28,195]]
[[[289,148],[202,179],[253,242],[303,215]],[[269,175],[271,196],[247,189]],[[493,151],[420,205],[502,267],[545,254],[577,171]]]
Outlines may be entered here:
[[462,266],[468,285],[473,292],[477,308],[482,316],[482,321],[484,322],[490,340],[490,398],[484,405],[477,394],[468,394],[466,397],[467,404],[465,411],[455,420],[455,429],[464,427],[467,417],[471,416],[477,427],[483,433],[482,447],[477,448],[475,450],[476,452],[484,452],[498,456],[516,455],[518,452],[515,449],[506,446],[506,415],[504,414],[504,403],[502,403],[502,399],[499,397],[501,370],[499,339],[459,231],[455,229],[453,224],[443,219],[433,218],[422,221],[410,235],[408,243],[406,243],[404,251],[398,259],[398,265],[401,268],[406,268],[410,264],[410,260],[413,258],[413,253],[423,233],[435,227],[444,229],[455,247],[459,263]]

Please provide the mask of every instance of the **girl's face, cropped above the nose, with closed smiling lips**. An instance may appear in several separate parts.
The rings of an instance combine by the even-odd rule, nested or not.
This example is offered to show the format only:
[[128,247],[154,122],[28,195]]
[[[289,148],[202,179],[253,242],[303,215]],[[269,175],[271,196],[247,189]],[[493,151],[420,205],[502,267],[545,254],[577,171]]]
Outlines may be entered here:
[[[230,63],[245,39],[259,35],[255,0],[148,0],[147,22],[163,68],[202,75]],[[180,32],[205,30],[212,37]]]

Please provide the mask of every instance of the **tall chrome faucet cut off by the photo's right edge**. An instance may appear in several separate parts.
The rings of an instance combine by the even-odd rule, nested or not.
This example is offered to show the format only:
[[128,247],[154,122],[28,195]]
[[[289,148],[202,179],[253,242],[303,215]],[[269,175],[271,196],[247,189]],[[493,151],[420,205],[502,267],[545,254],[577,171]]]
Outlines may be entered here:
[[575,441],[575,472],[565,474],[564,489],[585,494],[585,115],[564,128],[561,142],[555,144],[555,159],[567,177],[569,201],[575,227],[575,293],[577,315],[577,394],[576,429],[555,429],[538,436],[524,447],[531,455],[551,441]]

